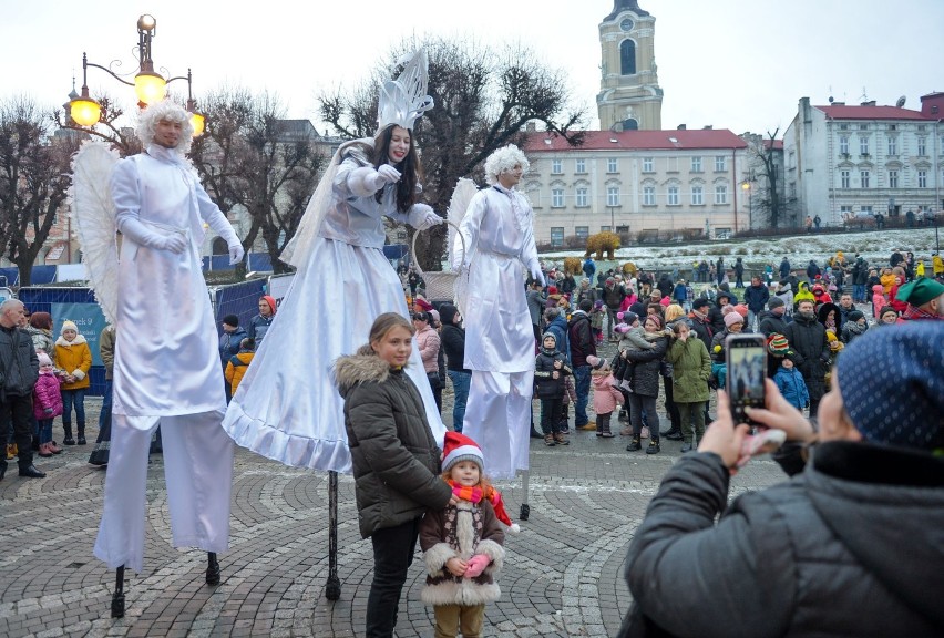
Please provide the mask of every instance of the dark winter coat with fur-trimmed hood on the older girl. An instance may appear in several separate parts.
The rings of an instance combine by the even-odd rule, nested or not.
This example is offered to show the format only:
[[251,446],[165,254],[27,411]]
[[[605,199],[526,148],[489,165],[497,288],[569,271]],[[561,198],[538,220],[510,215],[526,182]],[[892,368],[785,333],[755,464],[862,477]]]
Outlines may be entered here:
[[338,359],[335,378],[345,398],[361,536],[445,507],[452,490],[439,476],[441,451],[410,378],[369,346]]

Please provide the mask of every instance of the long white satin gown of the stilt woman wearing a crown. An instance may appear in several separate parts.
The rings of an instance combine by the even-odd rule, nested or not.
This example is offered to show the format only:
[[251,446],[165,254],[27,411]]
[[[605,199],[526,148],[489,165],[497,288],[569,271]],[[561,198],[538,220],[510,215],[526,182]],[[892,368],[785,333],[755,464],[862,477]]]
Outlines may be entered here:
[[[298,271],[223,421],[237,444],[286,465],[350,473],[335,361],[367,343],[383,312],[409,318],[400,279],[383,256],[381,219],[406,222],[408,215],[396,209],[393,185],[380,202],[359,186],[372,148],[366,138],[336,153],[299,228],[310,237],[294,250]],[[415,348],[407,373],[442,445],[445,426]]]

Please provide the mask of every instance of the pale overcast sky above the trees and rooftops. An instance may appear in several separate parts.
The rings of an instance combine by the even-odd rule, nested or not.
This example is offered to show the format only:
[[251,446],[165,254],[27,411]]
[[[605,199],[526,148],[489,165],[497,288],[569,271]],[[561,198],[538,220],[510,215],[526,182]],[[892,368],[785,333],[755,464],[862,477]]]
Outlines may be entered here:
[[[879,104],[944,91],[944,0],[639,0],[656,18],[663,126],[707,124],[736,133],[789,125],[797,102]],[[80,9],[81,8],[81,9]],[[157,19],[153,58],[173,75],[193,68],[194,92],[238,84],[267,89],[290,117],[316,122],[316,96],[359,81],[413,35],[521,42],[571,78],[598,127],[598,24],[613,0],[319,1],[0,0],[0,99],[66,100],[82,52],[136,68],[136,21]],[[470,12],[470,10],[472,12]],[[89,86],[122,86],[90,69]],[[935,82],[937,83],[935,85]],[[185,91],[181,83],[172,85]],[[129,89],[130,91],[130,89]],[[129,97],[127,104],[132,100]]]

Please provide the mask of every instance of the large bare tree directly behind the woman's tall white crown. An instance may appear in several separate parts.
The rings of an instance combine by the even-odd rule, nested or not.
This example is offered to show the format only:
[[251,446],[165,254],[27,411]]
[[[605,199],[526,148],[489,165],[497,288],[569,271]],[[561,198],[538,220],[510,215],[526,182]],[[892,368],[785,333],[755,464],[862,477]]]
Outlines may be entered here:
[[[566,75],[548,69],[521,45],[495,51],[481,44],[430,38],[418,44],[430,60],[429,93],[435,107],[414,131],[425,169],[423,197],[443,213],[460,177],[476,176],[492,151],[522,144],[529,122],[578,145],[585,120],[572,109]],[[412,49],[412,47],[411,47]],[[391,52],[398,60],[408,50]],[[370,81],[349,93],[322,95],[321,117],[347,137],[371,136],[377,127],[377,88],[400,69],[377,70]],[[577,131],[575,131],[577,128]],[[478,173],[478,175],[476,175]],[[434,228],[417,243],[420,265],[439,270],[445,229]]]

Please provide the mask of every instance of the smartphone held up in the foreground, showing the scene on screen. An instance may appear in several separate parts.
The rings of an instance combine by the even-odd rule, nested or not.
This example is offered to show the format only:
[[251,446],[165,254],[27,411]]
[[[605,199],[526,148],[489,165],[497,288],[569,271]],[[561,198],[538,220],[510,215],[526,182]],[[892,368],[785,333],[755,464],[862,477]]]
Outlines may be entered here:
[[728,400],[735,423],[760,425],[751,421],[746,408],[763,408],[763,380],[767,377],[767,342],[763,335],[728,335],[725,340]]

